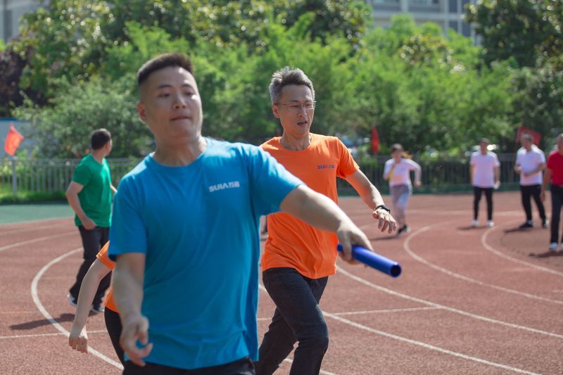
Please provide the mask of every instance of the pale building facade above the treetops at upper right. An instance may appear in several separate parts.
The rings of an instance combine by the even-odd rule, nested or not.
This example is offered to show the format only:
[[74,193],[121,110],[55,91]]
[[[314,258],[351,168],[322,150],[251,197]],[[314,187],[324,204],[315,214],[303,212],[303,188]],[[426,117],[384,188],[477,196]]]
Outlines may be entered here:
[[474,3],[475,0],[367,0],[372,7],[372,16],[376,27],[387,27],[391,23],[391,17],[398,13],[410,13],[417,25],[423,23],[436,23],[444,34],[449,29],[476,39],[474,28],[464,22],[465,4]]

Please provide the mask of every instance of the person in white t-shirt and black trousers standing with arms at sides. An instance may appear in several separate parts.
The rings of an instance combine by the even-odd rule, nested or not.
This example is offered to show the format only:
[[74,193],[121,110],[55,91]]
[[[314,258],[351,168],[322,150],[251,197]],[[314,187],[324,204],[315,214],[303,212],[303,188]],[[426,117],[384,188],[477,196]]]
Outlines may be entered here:
[[482,193],[485,193],[487,199],[487,225],[493,227],[493,189],[500,186],[500,162],[495,153],[488,151],[488,145],[491,142],[483,138],[479,141],[479,151],[475,151],[471,155],[470,174],[471,184],[473,185],[473,226],[479,223],[477,217],[479,215],[479,201],[481,201]]

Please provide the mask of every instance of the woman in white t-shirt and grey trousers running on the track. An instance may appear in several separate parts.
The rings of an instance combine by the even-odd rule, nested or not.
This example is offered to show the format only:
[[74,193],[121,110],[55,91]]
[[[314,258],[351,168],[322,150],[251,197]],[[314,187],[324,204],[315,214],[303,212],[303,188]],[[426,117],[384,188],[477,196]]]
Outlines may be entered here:
[[420,165],[410,160],[410,156],[403,151],[403,146],[393,144],[391,147],[392,159],[385,162],[383,178],[389,181],[391,201],[393,203],[393,216],[399,224],[397,236],[409,231],[407,225],[407,203],[412,195],[410,171],[415,171],[415,186],[420,186],[422,169]]

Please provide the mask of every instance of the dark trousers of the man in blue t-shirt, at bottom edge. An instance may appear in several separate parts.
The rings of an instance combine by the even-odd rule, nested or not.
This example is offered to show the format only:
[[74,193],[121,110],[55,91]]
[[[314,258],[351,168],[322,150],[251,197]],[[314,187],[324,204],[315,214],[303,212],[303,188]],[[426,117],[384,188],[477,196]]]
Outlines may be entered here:
[[201,367],[201,369],[185,370],[164,364],[148,363],[141,367],[131,361],[125,362],[123,375],[254,375],[254,366],[250,358],[221,364],[220,366]]

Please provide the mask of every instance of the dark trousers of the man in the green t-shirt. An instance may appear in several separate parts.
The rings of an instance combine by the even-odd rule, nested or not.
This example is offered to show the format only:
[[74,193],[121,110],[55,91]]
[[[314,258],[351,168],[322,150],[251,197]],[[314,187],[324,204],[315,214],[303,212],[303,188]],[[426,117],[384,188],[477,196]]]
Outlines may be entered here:
[[[82,227],[78,227],[78,231],[80,231],[80,237],[82,238],[82,246],[84,247],[84,260],[82,261],[82,265],[78,269],[78,273],[76,274],[76,281],[75,284],[70,287],[70,295],[75,299],[78,299],[78,293],[80,292],[80,286],[82,285],[82,279],[86,276],[88,269],[96,260],[96,255],[99,253],[102,246],[106,244],[109,240],[110,236],[110,229],[109,228],[102,228],[102,227],[95,227],[94,229],[87,230]],[[106,289],[110,286],[111,281],[111,272],[106,275],[100,281],[100,285],[98,286],[98,291],[96,291],[96,295],[94,296],[94,301],[92,302],[93,305],[100,305],[101,300],[103,298],[103,294],[106,293]]]

